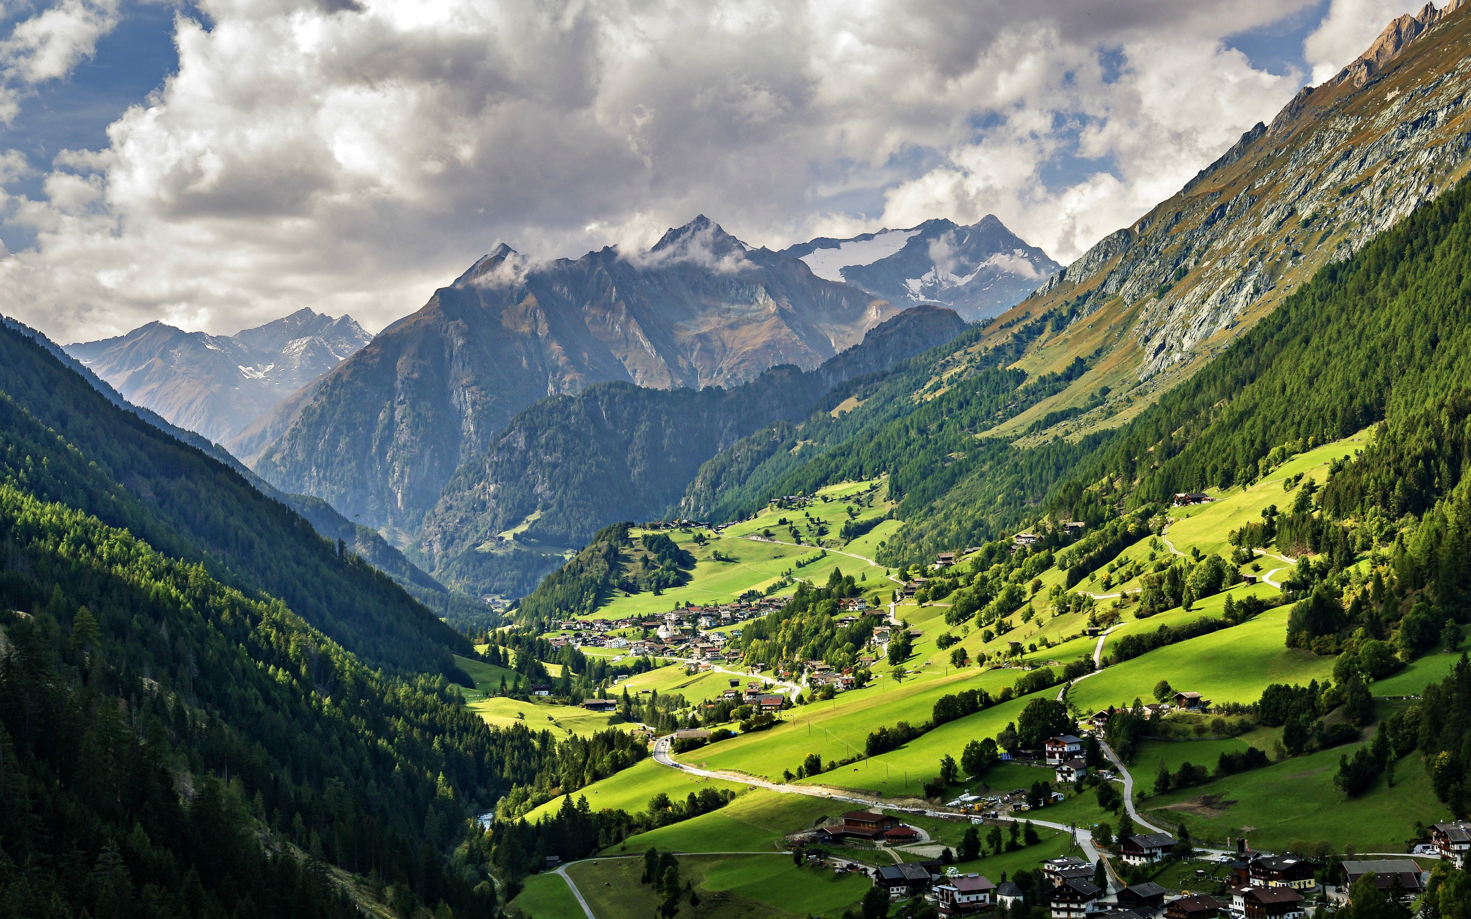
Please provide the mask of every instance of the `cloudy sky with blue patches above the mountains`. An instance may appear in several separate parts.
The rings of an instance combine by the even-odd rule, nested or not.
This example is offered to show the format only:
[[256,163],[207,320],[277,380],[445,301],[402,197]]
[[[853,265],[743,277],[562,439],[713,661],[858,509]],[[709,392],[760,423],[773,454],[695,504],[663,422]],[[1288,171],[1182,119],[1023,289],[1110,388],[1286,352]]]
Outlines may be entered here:
[[0,0],[0,312],[377,331],[506,243],[994,213],[1066,263],[1405,0]]

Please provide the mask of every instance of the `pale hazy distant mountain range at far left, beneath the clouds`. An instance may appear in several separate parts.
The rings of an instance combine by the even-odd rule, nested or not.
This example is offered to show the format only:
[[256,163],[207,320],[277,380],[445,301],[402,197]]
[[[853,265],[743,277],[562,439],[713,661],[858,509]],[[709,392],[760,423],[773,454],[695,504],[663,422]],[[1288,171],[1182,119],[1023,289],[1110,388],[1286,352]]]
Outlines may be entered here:
[[224,441],[371,338],[352,316],[303,309],[229,337],[150,322],[65,348],[132,404]]

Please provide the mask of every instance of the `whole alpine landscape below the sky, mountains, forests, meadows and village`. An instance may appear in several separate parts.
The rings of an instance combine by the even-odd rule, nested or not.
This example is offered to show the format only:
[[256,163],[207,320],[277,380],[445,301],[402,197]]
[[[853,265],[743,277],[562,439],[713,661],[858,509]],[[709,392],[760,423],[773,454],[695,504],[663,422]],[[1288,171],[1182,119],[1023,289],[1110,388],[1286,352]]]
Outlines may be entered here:
[[0,916],[1471,919],[1467,6],[1068,265],[6,319]]

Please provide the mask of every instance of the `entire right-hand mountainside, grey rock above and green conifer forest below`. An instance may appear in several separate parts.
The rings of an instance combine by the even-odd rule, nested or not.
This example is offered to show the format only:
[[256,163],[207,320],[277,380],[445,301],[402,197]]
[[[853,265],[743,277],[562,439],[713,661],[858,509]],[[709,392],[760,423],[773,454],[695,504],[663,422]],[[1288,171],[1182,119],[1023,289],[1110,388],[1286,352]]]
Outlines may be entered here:
[[[1330,329],[1317,300],[1297,298],[1315,272],[1322,291],[1347,266],[1365,285],[1405,282],[1411,253],[1386,265],[1364,247],[1471,162],[1467,12],[1431,7],[1395,24],[1375,49],[987,323],[964,351],[912,379],[894,378],[893,391],[862,393],[843,418],[813,413],[722,451],[681,509],[728,518],[771,494],[888,472],[908,526],[883,557],[912,562],[1025,523],[1049,494],[1059,513],[1081,515],[1074,500],[1100,479],[1130,494],[1137,481],[1137,493],[1156,500],[1243,481],[1286,440],[1356,431],[1386,418],[1400,393],[1436,398],[1433,388],[1406,390],[1399,375],[1420,365],[1420,350],[1442,354],[1459,319],[1425,315],[1420,322],[1442,331],[1412,346],[1422,329],[1396,316],[1418,315],[1428,301],[1352,319],[1355,300],[1336,293],[1347,312]],[[1417,216],[1443,219],[1433,213]],[[1420,238],[1383,246],[1414,250]],[[1284,301],[1296,306],[1274,315]],[[1397,331],[1371,343],[1378,322]],[[1409,353],[1395,356],[1395,340]],[[1381,378],[1389,368],[1393,376]],[[1455,375],[1436,371],[1434,379]],[[1005,400],[1005,410],[993,410],[993,400]],[[1114,443],[1124,453],[1103,465]],[[1074,476],[1066,496],[1055,493]]]

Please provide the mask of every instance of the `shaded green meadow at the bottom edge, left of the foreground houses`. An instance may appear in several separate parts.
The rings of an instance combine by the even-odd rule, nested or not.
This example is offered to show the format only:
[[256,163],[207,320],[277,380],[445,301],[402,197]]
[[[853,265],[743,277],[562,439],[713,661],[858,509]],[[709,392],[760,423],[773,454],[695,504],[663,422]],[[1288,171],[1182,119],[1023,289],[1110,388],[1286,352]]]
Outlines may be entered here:
[[[640,884],[641,856],[575,862],[568,873],[597,919],[644,919],[655,913],[658,897],[652,885]],[[840,913],[862,900],[871,887],[868,879],[855,875],[797,868],[784,853],[687,854],[680,857],[680,876],[699,893],[702,919]]]

